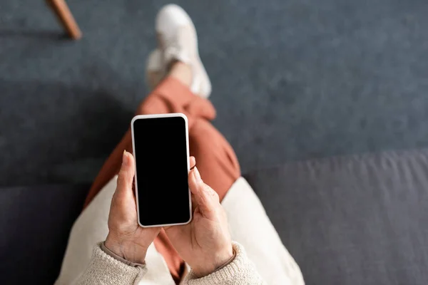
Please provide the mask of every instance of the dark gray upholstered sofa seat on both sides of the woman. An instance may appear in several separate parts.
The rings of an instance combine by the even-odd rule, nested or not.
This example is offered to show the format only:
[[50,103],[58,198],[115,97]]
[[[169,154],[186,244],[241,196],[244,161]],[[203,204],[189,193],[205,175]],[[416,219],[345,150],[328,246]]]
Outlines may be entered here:
[[[428,284],[428,150],[245,175],[307,284]],[[52,284],[88,185],[0,191],[2,284]]]

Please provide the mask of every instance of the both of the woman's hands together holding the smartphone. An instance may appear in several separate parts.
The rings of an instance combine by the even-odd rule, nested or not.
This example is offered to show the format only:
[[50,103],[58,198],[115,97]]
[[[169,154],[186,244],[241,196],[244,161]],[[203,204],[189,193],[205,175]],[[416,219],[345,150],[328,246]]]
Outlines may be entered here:
[[[193,165],[195,158],[190,157],[190,167]],[[134,174],[133,155],[123,152],[116,192],[108,215],[109,232],[104,244],[119,257],[143,264],[147,249],[161,227],[143,228],[138,225],[133,193]],[[205,276],[233,257],[232,241],[218,195],[200,179],[196,167],[190,171],[188,182],[192,192],[193,219],[189,224],[165,227],[165,232],[195,274]]]

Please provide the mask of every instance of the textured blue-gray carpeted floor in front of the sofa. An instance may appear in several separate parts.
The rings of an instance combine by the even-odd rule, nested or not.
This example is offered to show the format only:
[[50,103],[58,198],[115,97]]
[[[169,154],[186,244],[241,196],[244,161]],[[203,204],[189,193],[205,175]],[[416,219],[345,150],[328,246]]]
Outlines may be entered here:
[[[0,1],[0,185],[90,181],[146,95],[165,1]],[[423,0],[178,1],[213,82],[215,125],[244,171],[428,145]]]

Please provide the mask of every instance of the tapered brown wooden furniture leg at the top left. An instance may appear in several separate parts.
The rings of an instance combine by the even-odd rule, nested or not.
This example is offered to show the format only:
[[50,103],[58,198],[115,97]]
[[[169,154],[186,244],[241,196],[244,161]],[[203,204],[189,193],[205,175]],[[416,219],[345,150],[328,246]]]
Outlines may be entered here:
[[78,28],[70,9],[68,9],[66,1],[46,0],[46,2],[49,4],[49,6],[51,6],[52,10],[54,10],[56,17],[61,22],[62,26],[66,29],[68,35],[74,40],[81,38],[81,30]]

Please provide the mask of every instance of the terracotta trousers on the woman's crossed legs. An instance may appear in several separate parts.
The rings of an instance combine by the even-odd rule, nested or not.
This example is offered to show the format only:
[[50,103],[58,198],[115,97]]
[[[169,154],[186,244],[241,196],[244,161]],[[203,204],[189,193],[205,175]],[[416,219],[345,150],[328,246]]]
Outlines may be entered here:
[[[213,105],[209,100],[194,95],[177,79],[168,77],[143,100],[136,111],[136,115],[160,113],[184,113],[188,117],[190,155],[195,157],[204,182],[218,193],[221,201],[240,177],[240,166],[233,148],[210,123],[215,118]],[[123,150],[132,152],[131,129],[128,129],[98,173],[86,197],[85,207],[118,173]],[[154,243],[178,283],[185,268],[183,259],[178,256],[163,230]]]

